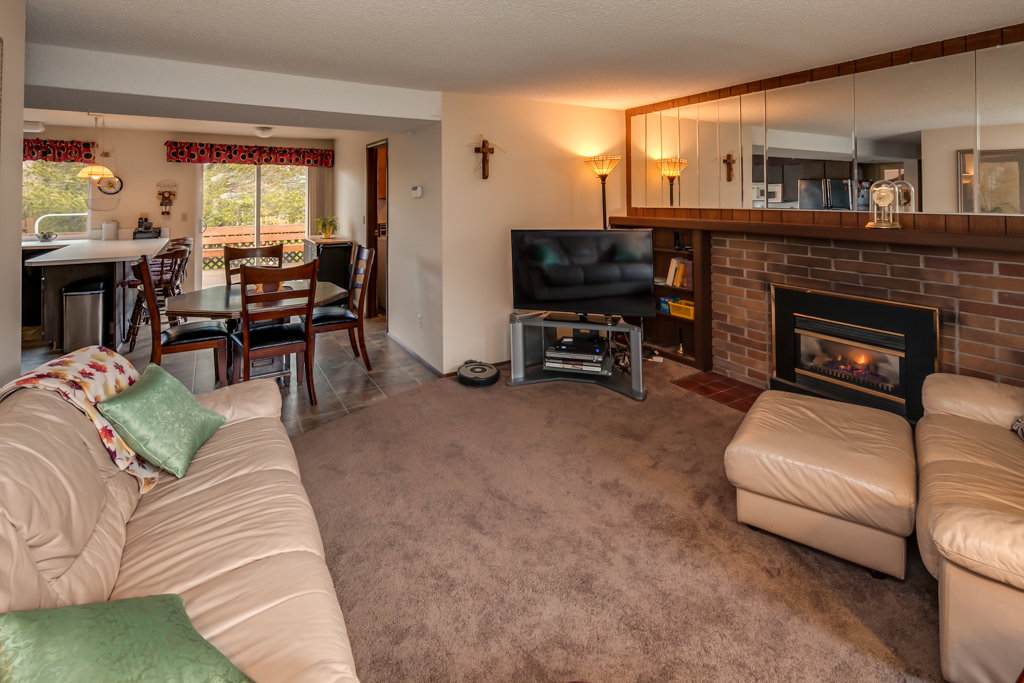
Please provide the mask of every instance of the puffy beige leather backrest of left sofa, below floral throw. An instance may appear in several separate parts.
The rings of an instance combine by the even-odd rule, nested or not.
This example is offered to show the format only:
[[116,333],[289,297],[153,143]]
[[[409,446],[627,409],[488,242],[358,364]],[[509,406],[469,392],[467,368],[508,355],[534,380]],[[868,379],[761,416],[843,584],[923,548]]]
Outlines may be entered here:
[[0,403],[0,611],[110,597],[138,480],[55,392]]

